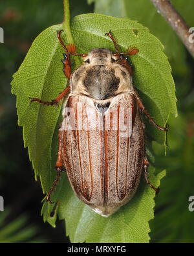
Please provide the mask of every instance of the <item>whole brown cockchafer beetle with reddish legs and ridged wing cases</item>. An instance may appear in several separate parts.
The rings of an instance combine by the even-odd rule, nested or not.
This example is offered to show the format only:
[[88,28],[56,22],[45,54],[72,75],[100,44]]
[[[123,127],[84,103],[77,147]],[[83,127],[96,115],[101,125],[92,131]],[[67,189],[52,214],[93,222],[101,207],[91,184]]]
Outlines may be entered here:
[[[63,108],[63,122],[59,128],[59,150],[56,162],[57,177],[47,194],[67,171],[70,185],[78,198],[102,215],[109,216],[131,200],[144,169],[147,179],[144,124],[140,111],[156,126],[149,116],[133,84],[133,71],[124,55],[138,52],[136,47],[119,52],[111,31],[109,36],[116,52],[105,48],[92,49],[89,54],[77,54],[74,45],[65,46],[63,72],[69,79],[67,86],[51,102],[30,98],[46,105],[58,105],[67,93]],[[83,64],[70,73],[70,54],[82,56]]]

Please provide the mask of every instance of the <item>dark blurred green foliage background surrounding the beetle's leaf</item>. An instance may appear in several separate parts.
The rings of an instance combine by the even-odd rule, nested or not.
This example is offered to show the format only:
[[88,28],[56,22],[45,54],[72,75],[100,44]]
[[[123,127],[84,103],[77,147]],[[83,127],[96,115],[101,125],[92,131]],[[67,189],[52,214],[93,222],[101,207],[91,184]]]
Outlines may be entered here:
[[[122,1],[116,5],[118,8],[114,8],[114,13],[111,13],[111,2],[108,0],[103,2],[109,3],[110,16],[121,16]],[[112,2],[115,5],[116,0]],[[182,5],[183,2],[173,1],[175,5],[177,3],[180,14],[189,25],[193,26],[194,3],[189,0],[187,4]],[[25,220],[26,217],[21,214],[26,213],[28,218],[30,217],[30,223],[41,230],[39,234],[41,239],[47,242],[67,242],[63,235],[63,222],[58,222],[56,229],[53,229],[43,224],[39,216],[41,185],[34,182],[27,150],[23,148],[22,130],[17,126],[16,99],[10,94],[12,74],[17,71],[25,58],[34,38],[50,25],[61,23],[62,2],[61,0],[0,0],[0,3],[0,27],[5,30],[5,43],[0,44],[0,195],[5,198],[5,211],[9,208],[12,217],[6,223],[12,224],[14,220],[19,223],[21,220],[17,220],[17,216]],[[162,38],[162,33],[164,36],[167,33],[171,38],[177,38],[173,30],[165,29],[168,26],[166,21],[163,21],[153,6],[150,5],[149,9],[144,7],[145,1],[142,5],[137,3],[138,1],[127,1],[128,7],[125,10],[130,12],[131,19],[149,27],[148,22],[156,16],[158,21],[151,21],[156,29],[154,31],[149,27],[151,32],[158,38]],[[86,0],[70,0],[70,5],[72,17],[92,12],[94,8],[94,3],[87,5]],[[95,6],[97,12],[96,8]],[[103,8],[98,9],[98,13],[102,13]],[[153,145],[156,154],[155,167],[158,170],[166,169],[167,176],[162,180],[160,193],[156,196],[155,219],[150,222],[151,242],[194,242],[194,213],[188,211],[188,198],[194,194],[194,62],[178,40],[177,38],[174,43],[170,39],[166,43],[162,41],[168,52],[167,55],[175,57],[174,60],[171,57],[170,62],[177,89],[179,116],[177,119],[170,117],[167,156],[164,156],[164,148],[156,143]],[[172,47],[173,52],[171,52]],[[0,213],[1,219],[2,214],[4,213]],[[8,213],[6,214],[8,216]],[[25,221],[23,223],[21,226],[27,227]],[[16,232],[18,233],[18,229]]]

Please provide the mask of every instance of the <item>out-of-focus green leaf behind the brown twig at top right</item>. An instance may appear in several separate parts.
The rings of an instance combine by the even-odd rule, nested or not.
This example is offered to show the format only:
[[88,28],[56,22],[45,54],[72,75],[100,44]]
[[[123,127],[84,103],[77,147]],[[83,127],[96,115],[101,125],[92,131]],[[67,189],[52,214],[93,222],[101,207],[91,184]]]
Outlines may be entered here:
[[[151,1],[136,0],[132,3],[128,0],[93,0],[92,2],[95,3],[94,12],[98,14],[129,17],[147,26],[151,33],[164,44],[169,62],[174,67],[173,71],[179,73],[179,75],[180,73],[184,75],[187,72],[186,51],[182,41],[164,17],[157,12]],[[193,1],[188,0],[185,4],[184,0],[172,0],[172,3],[188,25],[192,27],[194,23]]]

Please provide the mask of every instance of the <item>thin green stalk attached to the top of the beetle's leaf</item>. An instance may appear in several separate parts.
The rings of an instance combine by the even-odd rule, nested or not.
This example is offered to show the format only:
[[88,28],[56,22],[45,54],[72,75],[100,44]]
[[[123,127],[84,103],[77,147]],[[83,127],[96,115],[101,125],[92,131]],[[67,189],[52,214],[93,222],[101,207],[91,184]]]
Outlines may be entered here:
[[69,12],[69,0],[63,0],[63,11],[64,11],[64,19],[63,19],[63,30],[67,35],[68,43],[74,43],[72,38],[72,34],[70,32],[70,12]]

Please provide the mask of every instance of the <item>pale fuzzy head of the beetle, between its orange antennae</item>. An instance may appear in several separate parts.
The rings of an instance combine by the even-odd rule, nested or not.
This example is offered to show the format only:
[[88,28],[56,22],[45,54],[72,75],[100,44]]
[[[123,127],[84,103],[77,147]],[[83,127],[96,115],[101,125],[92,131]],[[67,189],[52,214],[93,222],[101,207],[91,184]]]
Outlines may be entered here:
[[116,62],[118,57],[105,48],[94,48],[84,58],[85,63],[93,65],[105,65]]

